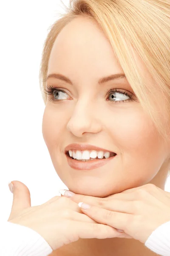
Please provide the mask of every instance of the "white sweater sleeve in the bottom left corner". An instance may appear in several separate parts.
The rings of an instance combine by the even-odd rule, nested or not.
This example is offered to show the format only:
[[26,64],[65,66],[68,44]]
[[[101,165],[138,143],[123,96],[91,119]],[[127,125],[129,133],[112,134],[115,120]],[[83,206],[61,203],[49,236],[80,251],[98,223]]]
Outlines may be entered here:
[[52,248],[39,233],[9,221],[0,223],[0,255],[48,256]]

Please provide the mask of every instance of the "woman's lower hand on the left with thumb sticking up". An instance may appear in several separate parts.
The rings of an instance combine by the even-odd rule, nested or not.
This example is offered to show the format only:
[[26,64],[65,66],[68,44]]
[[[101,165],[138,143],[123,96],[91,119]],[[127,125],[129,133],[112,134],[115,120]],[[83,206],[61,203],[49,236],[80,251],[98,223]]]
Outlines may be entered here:
[[106,239],[120,235],[113,227],[99,224],[82,214],[78,204],[69,198],[55,196],[44,204],[31,207],[28,187],[17,180],[12,183],[13,204],[8,221],[36,231],[48,242],[52,250],[79,238]]

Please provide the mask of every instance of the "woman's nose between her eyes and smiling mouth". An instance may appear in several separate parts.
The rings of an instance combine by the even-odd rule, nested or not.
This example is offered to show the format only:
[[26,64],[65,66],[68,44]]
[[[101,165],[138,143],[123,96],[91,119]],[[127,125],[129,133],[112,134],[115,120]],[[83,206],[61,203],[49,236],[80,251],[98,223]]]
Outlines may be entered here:
[[102,125],[97,119],[94,107],[87,100],[86,102],[79,100],[74,106],[67,129],[75,136],[82,137],[86,133],[98,133],[102,130]]

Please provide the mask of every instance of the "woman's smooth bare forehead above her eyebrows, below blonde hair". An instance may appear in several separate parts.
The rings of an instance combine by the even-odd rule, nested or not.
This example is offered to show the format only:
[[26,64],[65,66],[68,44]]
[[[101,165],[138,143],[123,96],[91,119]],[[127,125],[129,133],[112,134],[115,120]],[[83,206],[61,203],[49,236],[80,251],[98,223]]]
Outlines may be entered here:
[[96,21],[90,18],[78,17],[68,23],[57,36],[51,50],[48,73],[73,68],[88,73],[96,70],[103,75],[123,72],[110,42]]

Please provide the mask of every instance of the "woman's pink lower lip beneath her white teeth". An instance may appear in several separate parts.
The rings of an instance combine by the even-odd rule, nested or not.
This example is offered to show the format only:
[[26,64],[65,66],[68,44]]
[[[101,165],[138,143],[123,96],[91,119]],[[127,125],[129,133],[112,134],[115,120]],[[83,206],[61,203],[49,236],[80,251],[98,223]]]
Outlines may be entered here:
[[74,168],[77,170],[91,170],[91,169],[98,168],[100,166],[104,166],[106,163],[111,161],[116,156],[103,158],[103,159],[90,160],[88,162],[80,162],[80,161],[74,160],[71,157],[69,157],[67,154],[66,154],[66,157],[67,157],[68,164],[71,168]]

